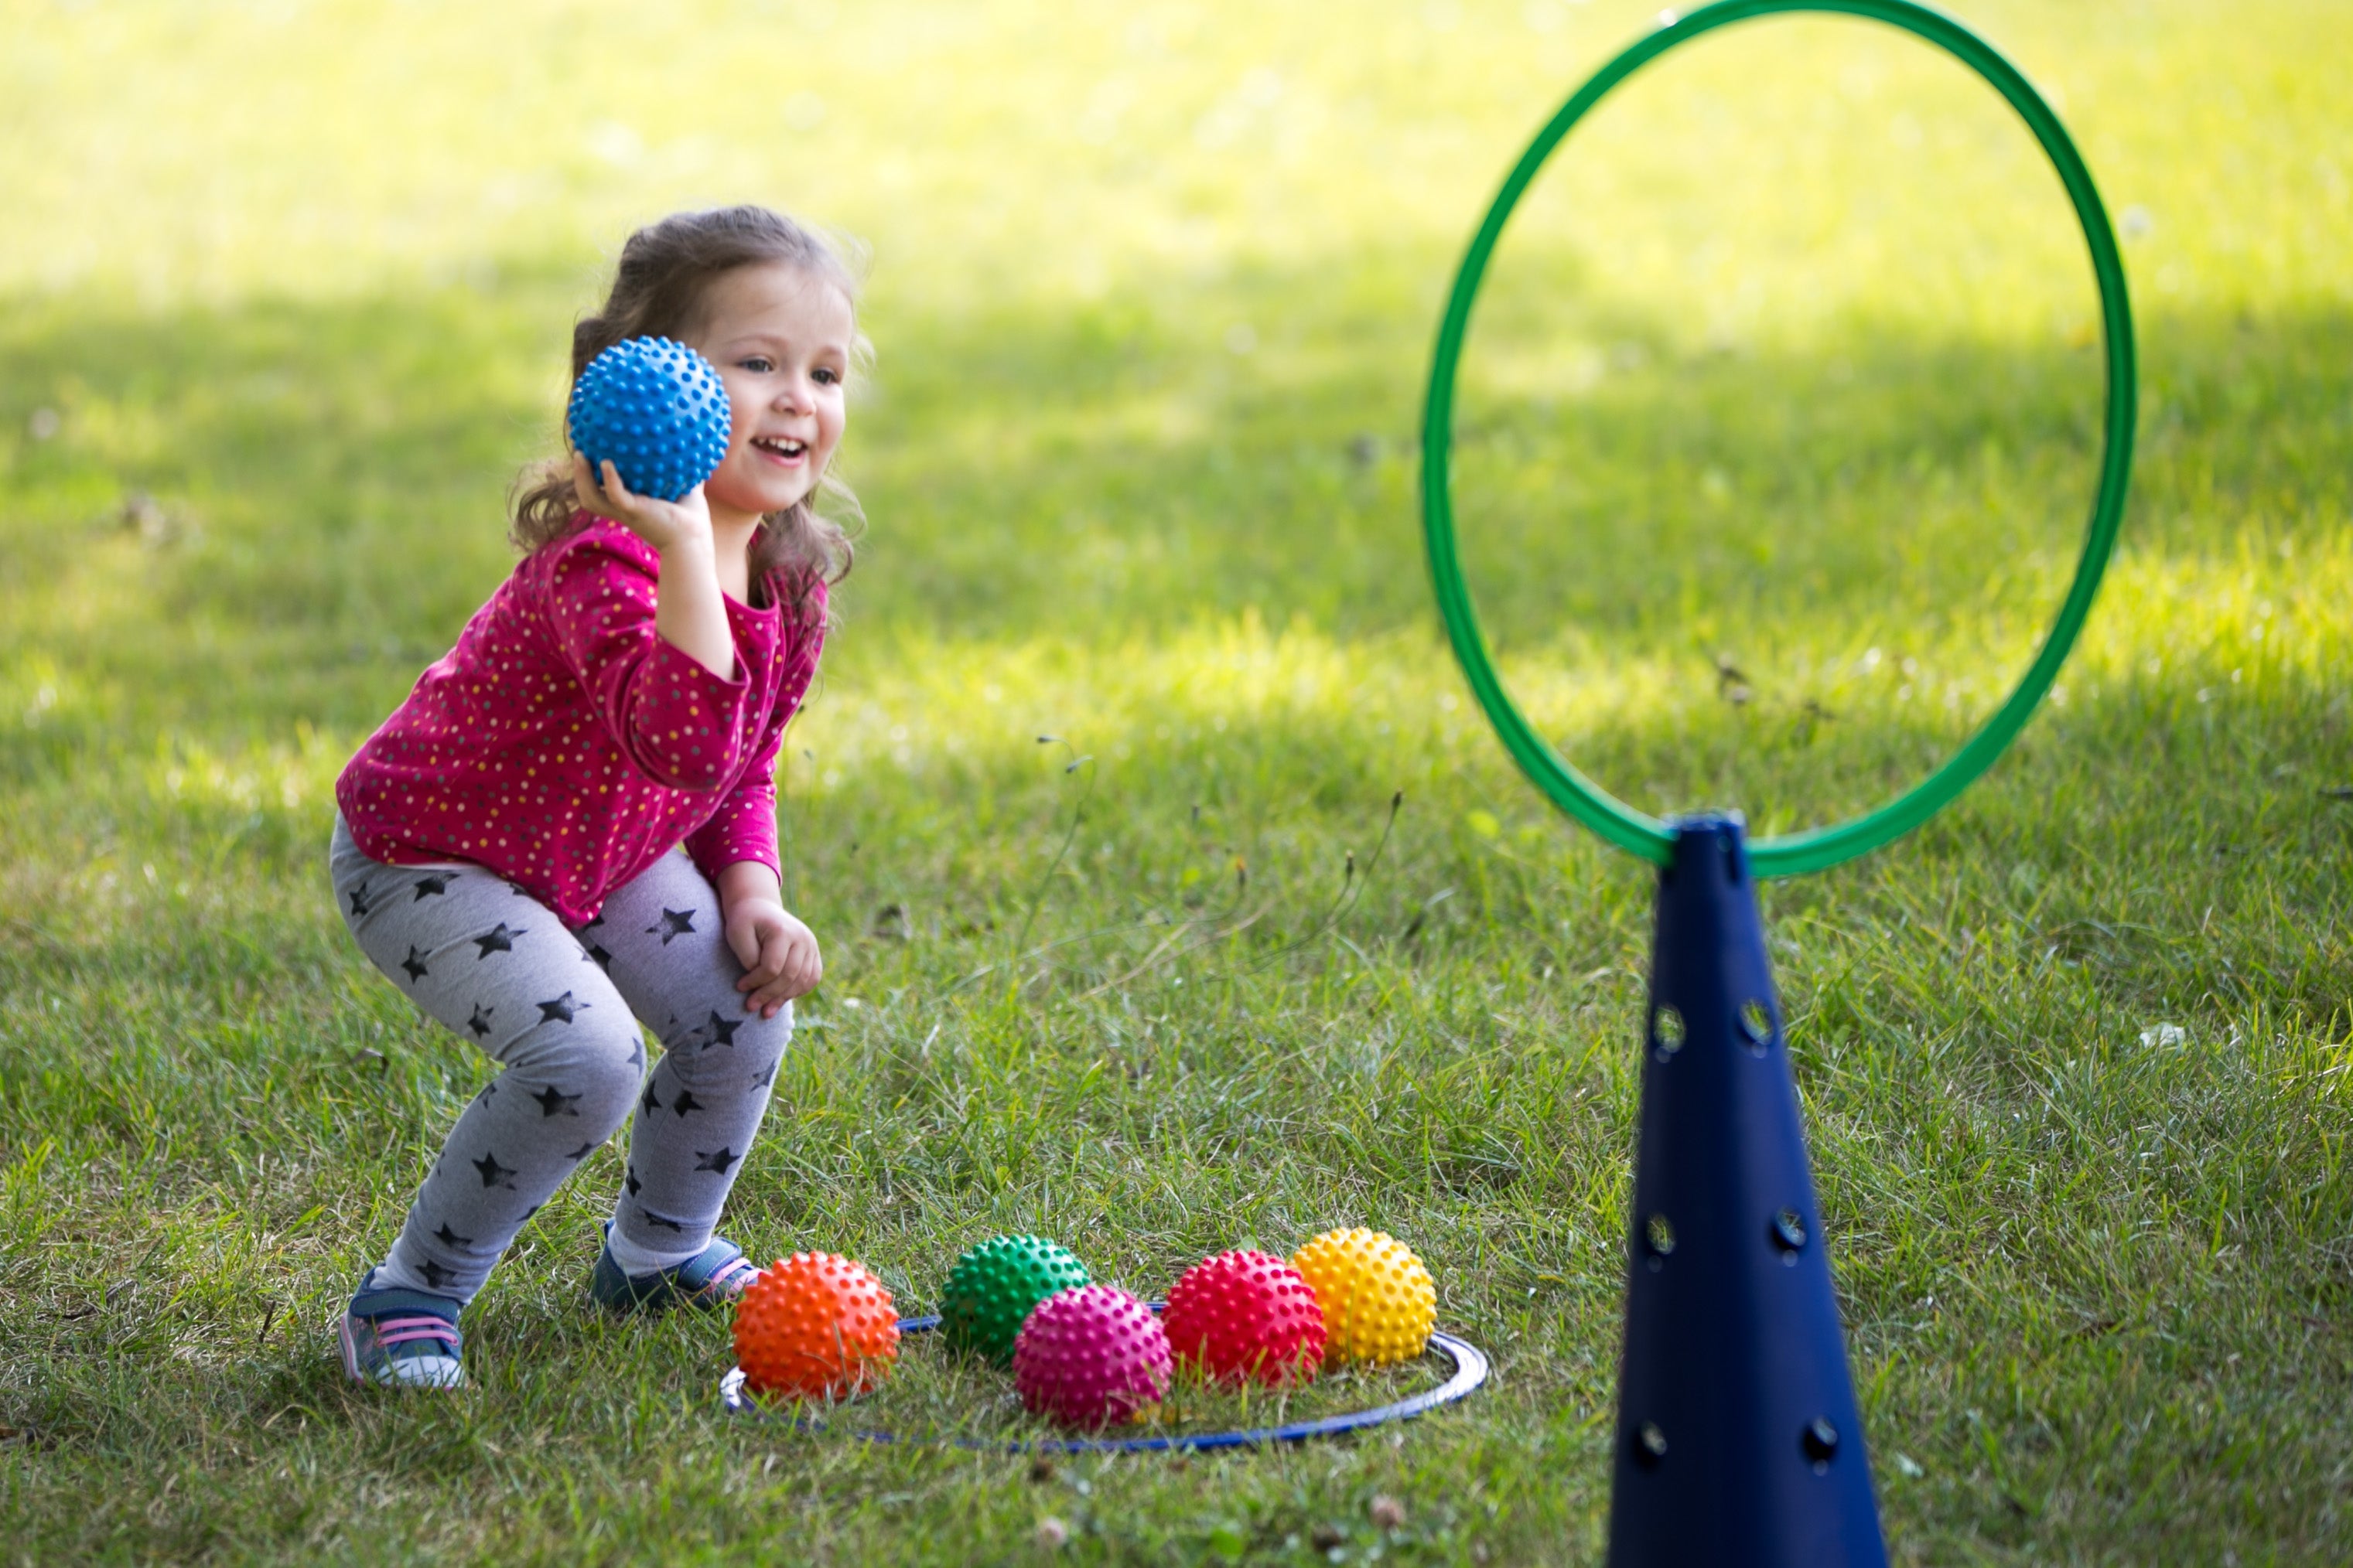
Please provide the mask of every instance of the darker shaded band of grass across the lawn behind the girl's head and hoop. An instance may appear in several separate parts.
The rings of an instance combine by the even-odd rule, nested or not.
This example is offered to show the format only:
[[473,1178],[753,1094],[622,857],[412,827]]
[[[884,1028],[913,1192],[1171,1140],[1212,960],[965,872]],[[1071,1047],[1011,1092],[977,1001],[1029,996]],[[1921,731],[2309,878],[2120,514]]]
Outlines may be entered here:
[[[1428,623],[1412,261],[878,322],[852,632]],[[581,294],[515,268],[327,306],[0,308],[12,686],[101,686],[118,738],[372,726],[506,569],[504,487],[553,435]],[[1224,315],[1268,322],[1249,357],[1202,343],[1195,317]],[[1480,390],[1473,343],[1459,496],[1499,644],[1772,658],[1962,611],[2042,623],[2089,494],[2089,350],[1857,322],[1802,357],[1678,355],[1671,322],[1586,324],[1612,343],[1600,371],[1565,357],[1511,397]],[[2353,320],[2158,317],[2146,343],[2127,550],[2228,555],[2247,522],[2341,515]],[[59,416],[47,440],[35,409]],[[0,726],[5,776],[78,745]]]

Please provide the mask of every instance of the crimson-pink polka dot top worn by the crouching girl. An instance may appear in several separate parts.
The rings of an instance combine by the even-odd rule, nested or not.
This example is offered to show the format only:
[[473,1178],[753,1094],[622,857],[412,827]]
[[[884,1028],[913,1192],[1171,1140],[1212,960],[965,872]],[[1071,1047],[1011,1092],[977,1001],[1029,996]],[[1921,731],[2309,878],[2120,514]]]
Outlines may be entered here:
[[654,632],[661,557],[581,512],[473,614],[334,780],[374,860],[485,865],[581,926],[685,842],[706,877],[776,867],[776,752],[826,639],[802,609],[727,599],[720,679]]

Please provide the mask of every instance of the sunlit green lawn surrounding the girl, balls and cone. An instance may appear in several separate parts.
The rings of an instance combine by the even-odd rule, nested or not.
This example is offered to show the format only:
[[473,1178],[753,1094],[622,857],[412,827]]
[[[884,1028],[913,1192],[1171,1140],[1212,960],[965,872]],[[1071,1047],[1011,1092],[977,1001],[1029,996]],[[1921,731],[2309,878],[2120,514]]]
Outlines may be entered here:
[[[1647,9],[0,5],[0,1561],[1598,1561],[1649,884],[1468,705],[1412,430],[1494,181]],[[2346,1561],[2353,19],[1967,14],[2129,216],[2146,378],[2061,691],[1765,893],[1889,1547]],[[485,1063],[336,922],[329,788],[506,571],[602,259],[722,197],[866,235],[880,346],[784,776],[828,983],[732,1234],[920,1307],[998,1229],[1160,1291],[1374,1222],[1471,1403],[1052,1474],[729,1420],[722,1324],[586,1307],[614,1147],[473,1392],[344,1387]],[[1918,778],[2071,567],[2089,322],[1939,61],[1638,78],[1466,367],[1515,691],[1654,811]],[[965,1378],[873,1410],[1002,1420]]]

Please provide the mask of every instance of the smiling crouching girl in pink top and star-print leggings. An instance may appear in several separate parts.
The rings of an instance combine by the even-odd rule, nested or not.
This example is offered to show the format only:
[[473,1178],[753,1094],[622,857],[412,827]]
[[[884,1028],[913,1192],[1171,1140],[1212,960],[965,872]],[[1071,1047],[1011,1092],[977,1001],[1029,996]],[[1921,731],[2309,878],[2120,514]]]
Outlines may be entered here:
[[786,216],[680,214],[621,247],[572,376],[633,336],[718,367],[727,456],[678,503],[576,454],[525,475],[525,559],[336,780],[351,933],[506,1067],[351,1298],[362,1382],[464,1382],[459,1312],[633,1110],[591,1295],[718,1305],[753,1274],[713,1227],[821,973],[779,896],[774,766],[849,569],[812,496],[842,440],[854,287]]

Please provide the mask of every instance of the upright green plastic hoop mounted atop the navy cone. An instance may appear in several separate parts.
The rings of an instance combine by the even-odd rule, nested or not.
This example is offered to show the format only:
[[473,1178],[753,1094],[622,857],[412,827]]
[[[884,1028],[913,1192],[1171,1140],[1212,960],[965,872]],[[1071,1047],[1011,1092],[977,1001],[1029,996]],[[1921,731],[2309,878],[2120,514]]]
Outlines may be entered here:
[[1584,120],[1612,87],[1675,45],[1732,26],[1734,21],[1772,16],[1777,12],[1831,12],[1901,28],[1969,66],[2026,120],[2026,129],[2035,134],[2042,153],[2059,169],[2059,181],[2066,186],[2068,200],[2075,205],[2075,216],[2082,223],[2082,237],[2092,247],[2092,273],[2099,280],[2099,313],[2106,334],[2108,416],[2099,491],[2092,501],[2092,524],[2085,531],[2082,557],[2075,562],[2075,581],[2059,604],[2059,618],[2052,623],[2049,637],[2009,698],[1944,766],[1885,806],[1831,827],[1753,842],[1748,846],[1748,865],[1758,877],[1795,877],[1800,872],[1828,870],[1904,837],[1951,804],[1955,795],[1967,790],[2009,748],[2033,715],[2035,703],[2049,691],[2059,665],[2066,663],[2068,649],[2075,646],[2075,635],[2082,630],[2085,616],[2092,611],[2092,595],[2099,590],[2108,552],[2115,548],[2115,531],[2125,517],[2134,425],[2132,303],[2125,294],[2125,266],[2115,249],[2115,233],[2108,228],[2108,212],[2101,207],[2092,172],[2085,169],[2082,155],[2068,139],[2066,127],[2059,125],[2059,115],[2052,113],[2042,94],[1993,45],[1951,16],[1913,5],[1911,0],[1720,0],[1689,16],[1668,12],[1661,16],[1657,33],[1595,71],[1560,106],[1560,113],[1537,132],[1537,139],[1504,179],[1494,205],[1487,207],[1487,219],[1464,254],[1461,270],[1454,275],[1454,294],[1447,299],[1447,313],[1438,324],[1438,353],[1431,362],[1431,393],[1421,418],[1421,527],[1431,552],[1431,585],[1438,590],[1438,611],[1445,616],[1454,658],[1461,663],[1464,675],[1471,679],[1471,691],[1478,696],[1480,708],[1487,710],[1487,719],[1520,769],[1553,804],[1602,839],[1657,865],[1673,860],[1675,839],[1668,823],[1619,802],[1553,750],[1513,705],[1487,656],[1487,639],[1480,632],[1478,611],[1471,607],[1471,592],[1464,588],[1461,562],[1454,550],[1454,505],[1449,496],[1454,369],[1461,360],[1464,331],[1471,324],[1471,303],[1478,299],[1480,277],[1487,273],[1487,259],[1494,254],[1504,223],[1511,219],[1529,181],[1537,179],[1546,158],[1569,134],[1569,127]]

